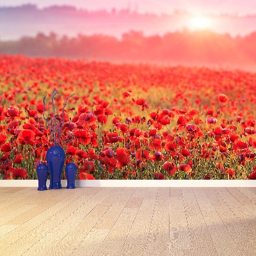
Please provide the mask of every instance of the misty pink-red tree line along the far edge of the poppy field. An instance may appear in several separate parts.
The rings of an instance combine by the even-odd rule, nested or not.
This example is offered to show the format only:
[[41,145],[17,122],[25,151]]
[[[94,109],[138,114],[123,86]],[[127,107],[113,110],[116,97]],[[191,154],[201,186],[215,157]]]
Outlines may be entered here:
[[[212,31],[184,30],[163,36],[130,31],[120,40],[106,35],[59,37],[55,33],[0,42],[3,54],[32,57],[86,58],[88,60],[208,65],[255,69],[256,32],[248,36],[219,35]],[[256,69],[255,69],[256,71]]]

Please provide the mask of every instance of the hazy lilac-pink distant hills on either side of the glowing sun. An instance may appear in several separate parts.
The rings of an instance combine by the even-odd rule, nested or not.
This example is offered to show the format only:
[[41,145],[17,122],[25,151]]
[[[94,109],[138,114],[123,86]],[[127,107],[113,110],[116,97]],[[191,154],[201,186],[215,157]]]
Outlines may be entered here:
[[[256,15],[212,15],[216,33],[231,36],[248,35],[256,31]],[[74,6],[50,6],[39,9],[27,4],[0,7],[0,40],[17,40],[22,36],[36,36],[38,32],[52,32],[63,36],[104,34],[121,38],[130,31],[143,31],[144,35],[164,35],[182,31],[189,26],[191,14],[175,11],[172,14],[139,13],[134,10],[99,10],[90,12]]]

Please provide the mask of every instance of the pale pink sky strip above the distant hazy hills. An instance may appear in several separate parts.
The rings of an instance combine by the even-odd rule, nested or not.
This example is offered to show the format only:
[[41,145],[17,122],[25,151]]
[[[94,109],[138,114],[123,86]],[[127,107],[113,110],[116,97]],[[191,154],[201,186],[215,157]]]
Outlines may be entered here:
[[130,7],[145,13],[172,13],[173,10],[184,10],[196,15],[205,14],[238,14],[256,13],[255,0],[0,0],[0,6],[17,6],[36,4],[39,8],[50,5],[73,5],[87,10]]

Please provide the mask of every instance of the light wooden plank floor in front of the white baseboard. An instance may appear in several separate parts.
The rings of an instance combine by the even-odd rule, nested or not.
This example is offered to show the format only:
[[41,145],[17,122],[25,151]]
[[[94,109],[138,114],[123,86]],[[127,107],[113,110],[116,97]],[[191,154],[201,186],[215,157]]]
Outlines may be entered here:
[[0,188],[0,255],[256,255],[256,188]]

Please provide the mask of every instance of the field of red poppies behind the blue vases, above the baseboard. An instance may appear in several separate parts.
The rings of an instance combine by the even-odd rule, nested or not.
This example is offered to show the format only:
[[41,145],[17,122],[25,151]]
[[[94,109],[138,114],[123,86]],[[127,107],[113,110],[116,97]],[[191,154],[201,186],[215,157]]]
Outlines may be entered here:
[[239,70],[1,55],[0,179],[37,179],[53,139],[77,179],[256,179],[255,87]]

